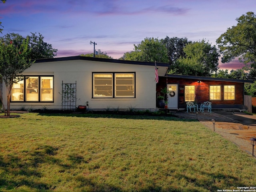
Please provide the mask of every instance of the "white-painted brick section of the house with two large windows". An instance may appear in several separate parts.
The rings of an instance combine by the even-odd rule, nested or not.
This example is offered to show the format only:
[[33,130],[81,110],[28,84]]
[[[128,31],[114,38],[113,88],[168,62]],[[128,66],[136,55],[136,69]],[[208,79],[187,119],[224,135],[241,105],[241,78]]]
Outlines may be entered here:
[[[165,76],[168,64],[157,63]],[[14,84],[11,109],[92,110],[156,109],[155,64],[116,59],[72,56],[38,59]],[[3,82],[4,83],[4,82]],[[7,103],[3,85],[3,103]]]

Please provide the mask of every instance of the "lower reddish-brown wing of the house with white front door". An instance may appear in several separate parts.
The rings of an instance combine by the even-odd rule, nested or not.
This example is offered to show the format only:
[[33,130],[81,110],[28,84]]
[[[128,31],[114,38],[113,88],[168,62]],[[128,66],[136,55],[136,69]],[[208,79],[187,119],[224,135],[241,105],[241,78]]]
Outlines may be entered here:
[[251,80],[167,74],[159,77],[156,96],[167,86],[168,108],[186,108],[186,102],[212,102],[213,109],[244,109],[244,84]]

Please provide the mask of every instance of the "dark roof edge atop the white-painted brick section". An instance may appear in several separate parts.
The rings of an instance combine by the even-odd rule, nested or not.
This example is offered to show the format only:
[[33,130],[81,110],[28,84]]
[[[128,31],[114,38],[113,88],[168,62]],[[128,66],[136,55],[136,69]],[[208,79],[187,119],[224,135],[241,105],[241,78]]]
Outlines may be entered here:
[[[106,58],[84,57],[84,56],[70,56],[70,57],[37,59],[35,63],[54,62],[54,61],[70,61],[70,60],[88,60],[88,61],[99,61],[99,62],[110,62],[110,63],[155,66],[154,62],[128,61],[128,60],[106,59]],[[156,63],[156,65],[157,66],[163,66],[163,67],[168,67],[169,66],[168,63],[158,63],[158,62]]]

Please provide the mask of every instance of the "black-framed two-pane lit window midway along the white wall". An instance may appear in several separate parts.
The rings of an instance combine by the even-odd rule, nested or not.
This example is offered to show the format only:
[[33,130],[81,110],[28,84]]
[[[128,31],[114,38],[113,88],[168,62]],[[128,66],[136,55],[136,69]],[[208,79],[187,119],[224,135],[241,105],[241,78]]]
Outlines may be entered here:
[[93,73],[93,98],[135,97],[135,73]]

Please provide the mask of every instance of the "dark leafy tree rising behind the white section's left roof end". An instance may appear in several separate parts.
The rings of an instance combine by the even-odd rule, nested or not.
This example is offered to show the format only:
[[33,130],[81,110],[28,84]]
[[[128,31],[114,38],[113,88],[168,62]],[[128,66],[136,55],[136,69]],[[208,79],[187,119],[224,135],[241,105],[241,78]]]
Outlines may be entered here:
[[8,43],[13,42],[18,48],[22,45],[24,39],[28,39],[28,49],[30,50],[28,58],[41,59],[41,58],[53,58],[56,56],[57,49],[52,48],[51,44],[44,42],[42,34],[31,33],[31,36],[22,37],[20,34],[10,33],[0,37],[0,41]]

